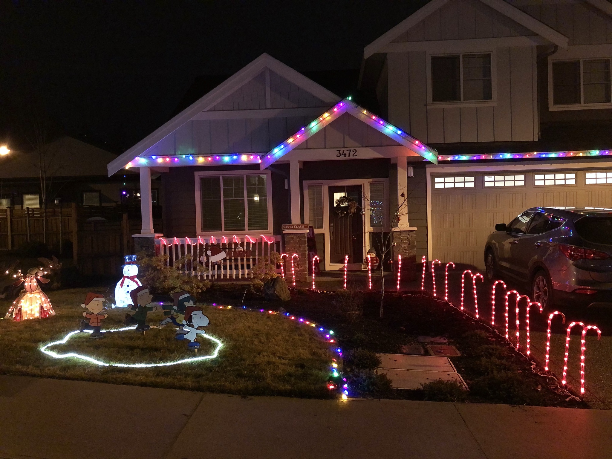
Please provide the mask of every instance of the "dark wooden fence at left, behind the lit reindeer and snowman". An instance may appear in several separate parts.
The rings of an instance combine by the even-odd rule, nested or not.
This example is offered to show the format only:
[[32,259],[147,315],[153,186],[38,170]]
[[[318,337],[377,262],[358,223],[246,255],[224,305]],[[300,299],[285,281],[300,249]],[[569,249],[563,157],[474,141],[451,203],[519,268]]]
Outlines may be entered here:
[[[78,206],[43,209],[0,209],[0,250],[15,250],[39,241],[67,255],[86,275],[121,275],[123,256],[133,253],[132,234],[141,220],[116,207]],[[161,230],[161,220],[154,227]],[[61,256],[60,255],[60,256]]]

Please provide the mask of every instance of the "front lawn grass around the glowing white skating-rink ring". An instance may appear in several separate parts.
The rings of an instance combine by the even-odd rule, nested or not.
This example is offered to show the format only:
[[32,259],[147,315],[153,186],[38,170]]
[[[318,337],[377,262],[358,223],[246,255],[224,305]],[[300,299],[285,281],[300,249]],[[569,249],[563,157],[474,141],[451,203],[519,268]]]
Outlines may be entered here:
[[[80,379],[113,384],[167,387],[240,395],[285,395],[331,397],[325,383],[332,353],[329,345],[310,327],[300,326],[280,315],[204,306],[211,319],[206,333],[220,339],[223,347],[215,359],[155,368],[100,367],[75,358],[53,359],[42,352],[41,343],[60,340],[78,329],[81,302],[89,289],[65,289],[49,293],[56,316],[20,323],[0,320],[0,373]],[[92,291],[95,291],[92,290]],[[10,302],[0,300],[4,316]],[[108,311],[103,329],[123,324],[125,309]],[[149,313],[149,324],[157,324],[162,312]],[[86,354],[105,362],[155,363],[212,353],[215,343],[198,338],[198,353],[184,341],[174,340],[174,327],[113,332],[94,340],[77,334],[56,353]]]

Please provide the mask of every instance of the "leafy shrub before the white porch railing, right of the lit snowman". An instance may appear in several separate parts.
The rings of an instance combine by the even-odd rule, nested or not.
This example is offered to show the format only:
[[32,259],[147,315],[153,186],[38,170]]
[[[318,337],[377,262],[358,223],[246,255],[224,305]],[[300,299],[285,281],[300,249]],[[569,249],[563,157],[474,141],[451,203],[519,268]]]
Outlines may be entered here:
[[[199,278],[200,275],[206,274],[207,270],[200,263],[194,263],[191,255],[185,255],[177,259],[174,266],[168,266],[168,255],[147,256],[140,253],[138,264],[138,278],[143,285],[151,288],[153,293],[170,294],[185,290],[197,297],[211,286],[210,282]],[[192,271],[195,274],[193,276]]]

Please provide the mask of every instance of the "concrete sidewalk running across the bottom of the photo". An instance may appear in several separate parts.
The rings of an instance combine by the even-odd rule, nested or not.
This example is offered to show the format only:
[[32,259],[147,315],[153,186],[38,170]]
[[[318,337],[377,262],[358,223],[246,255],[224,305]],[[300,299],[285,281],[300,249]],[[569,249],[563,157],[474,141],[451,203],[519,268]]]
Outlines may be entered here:
[[0,458],[610,458],[612,411],[0,376]]

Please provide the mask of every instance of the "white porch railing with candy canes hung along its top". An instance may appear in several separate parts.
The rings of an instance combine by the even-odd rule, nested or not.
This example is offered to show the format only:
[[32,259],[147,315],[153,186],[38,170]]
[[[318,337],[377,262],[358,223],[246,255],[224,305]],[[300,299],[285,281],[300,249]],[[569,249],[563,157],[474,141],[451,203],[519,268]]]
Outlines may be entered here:
[[261,259],[269,262],[271,252],[282,253],[282,236],[160,237],[155,245],[157,253],[168,255],[168,266],[192,255],[193,261],[183,265],[185,274],[198,275],[195,267],[199,263],[207,268],[199,277],[230,280],[250,278],[252,267]]

